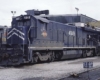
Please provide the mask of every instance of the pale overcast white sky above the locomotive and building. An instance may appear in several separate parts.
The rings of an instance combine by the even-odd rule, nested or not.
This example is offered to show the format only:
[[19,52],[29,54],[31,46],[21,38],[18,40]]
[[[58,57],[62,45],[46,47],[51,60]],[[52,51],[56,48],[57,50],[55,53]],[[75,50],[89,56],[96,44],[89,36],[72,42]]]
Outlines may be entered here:
[[76,14],[75,7],[79,14],[100,20],[100,0],[0,0],[0,25],[11,26],[11,11],[16,11],[14,16],[30,9],[48,9],[51,15]]

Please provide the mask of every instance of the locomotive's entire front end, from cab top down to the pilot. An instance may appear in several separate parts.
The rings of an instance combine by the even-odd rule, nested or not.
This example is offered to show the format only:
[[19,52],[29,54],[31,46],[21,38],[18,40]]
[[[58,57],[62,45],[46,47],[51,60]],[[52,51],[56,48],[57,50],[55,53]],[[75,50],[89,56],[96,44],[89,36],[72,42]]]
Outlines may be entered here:
[[[7,54],[10,64],[21,64],[28,60],[28,46],[30,43],[31,27],[35,26],[30,15],[21,15],[13,18],[12,27],[7,31]],[[34,30],[35,31],[35,30]],[[29,61],[29,60],[28,60]]]

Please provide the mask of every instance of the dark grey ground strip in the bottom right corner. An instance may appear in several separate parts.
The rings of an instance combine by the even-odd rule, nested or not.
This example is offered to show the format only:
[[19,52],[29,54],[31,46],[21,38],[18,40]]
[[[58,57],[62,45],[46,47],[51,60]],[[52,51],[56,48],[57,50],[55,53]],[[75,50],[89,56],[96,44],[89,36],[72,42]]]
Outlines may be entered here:
[[100,68],[80,73],[77,76],[71,75],[60,80],[100,80]]

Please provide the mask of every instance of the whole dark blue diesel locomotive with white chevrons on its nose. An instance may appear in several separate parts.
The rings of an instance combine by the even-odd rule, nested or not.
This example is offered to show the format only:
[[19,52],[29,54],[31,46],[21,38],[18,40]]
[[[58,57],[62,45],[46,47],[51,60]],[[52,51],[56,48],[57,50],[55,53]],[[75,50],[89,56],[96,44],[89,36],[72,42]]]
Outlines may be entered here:
[[99,52],[100,30],[68,25],[41,17],[48,11],[26,11],[13,18],[7,30],[5,53],[0,65],[20,65],[39,61],[95,56]]

